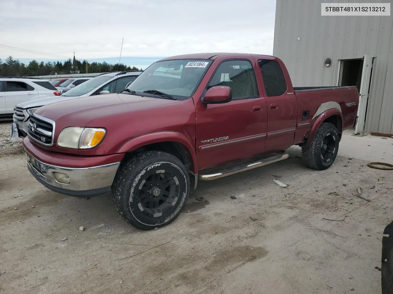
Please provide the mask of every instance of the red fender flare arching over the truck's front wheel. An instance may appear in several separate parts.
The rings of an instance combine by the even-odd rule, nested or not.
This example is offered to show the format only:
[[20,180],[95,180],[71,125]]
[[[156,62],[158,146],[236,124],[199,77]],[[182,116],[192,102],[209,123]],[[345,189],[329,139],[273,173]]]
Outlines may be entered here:
[[193,172],[195,174],[198,174],[198,165],[196,161],[195,147],[193,146],[193,143],[191,143],[190,140],[187,139],[186,136],[184,136],[179,132],[171,132],[171,131],[154,132],[151,134],[135,137],[125,142],[123,145],[121,145],[118,151],[116,152],[117,153],[131,152],[140,147],[150,145],[153,143],[160,143],[160,142],[177,142],[184,145],[189,151],[191,158],[193,160],[193,167],[194,167]]

